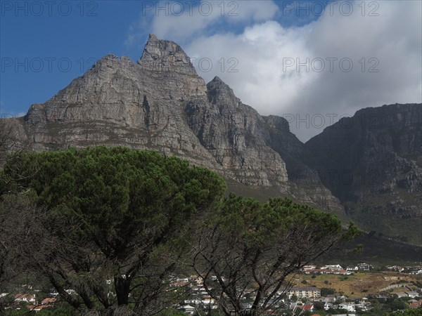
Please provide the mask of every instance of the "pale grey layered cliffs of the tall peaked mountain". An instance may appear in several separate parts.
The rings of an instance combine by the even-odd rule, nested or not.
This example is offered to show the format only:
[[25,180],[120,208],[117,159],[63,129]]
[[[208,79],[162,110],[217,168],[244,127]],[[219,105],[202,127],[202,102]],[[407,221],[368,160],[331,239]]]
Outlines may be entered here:
[[273,138],[288,134],[298,151],[303,144],[287,121],[281,127],[277,119],[283,121],[261,117],[241,103],[218,77],[205,84],[179,45],[151,34],[137,63],[107,55],[46,103],[32,105],[14,125],[15,138],[34,150],[94,145],[159,150],[213,169],[234,187],[254,187],[256,197],[269,189],[271,195],[293,195],[342,213],[321,183],[316,187],[324,197],[308,188],[297,193],[286,152],[273,146]]

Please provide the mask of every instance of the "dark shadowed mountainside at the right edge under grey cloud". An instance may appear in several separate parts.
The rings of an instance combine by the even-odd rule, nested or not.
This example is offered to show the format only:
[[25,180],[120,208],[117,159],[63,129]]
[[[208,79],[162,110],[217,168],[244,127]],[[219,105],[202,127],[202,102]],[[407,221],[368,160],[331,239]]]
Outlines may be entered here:
[[305,162],[358,223],[422,242],[421,104],[359,110],[305,149]]

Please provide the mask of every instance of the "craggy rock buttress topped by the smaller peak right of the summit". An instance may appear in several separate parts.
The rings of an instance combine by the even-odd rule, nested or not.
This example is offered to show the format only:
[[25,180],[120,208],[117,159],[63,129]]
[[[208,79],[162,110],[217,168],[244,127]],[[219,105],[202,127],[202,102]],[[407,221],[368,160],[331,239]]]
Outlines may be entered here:
[[218,164],[231,171],[231,179],[246,185],[287,187],[286,164],[264,143],[263,119],[236,98],[216,77],[207,84],[207,100],[186,104],[188,126]]

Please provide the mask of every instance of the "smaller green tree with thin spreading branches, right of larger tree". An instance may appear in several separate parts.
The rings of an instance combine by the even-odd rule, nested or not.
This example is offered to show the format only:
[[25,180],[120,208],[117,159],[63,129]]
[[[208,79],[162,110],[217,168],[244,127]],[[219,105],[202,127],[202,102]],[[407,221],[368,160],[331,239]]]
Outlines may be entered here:
[[302,266],[357,234],[352,224],[343,231],[333,214],[290,199],[262,204],[231,194],[198,232],[193,268],[226,315],[260,315],[279,305]]

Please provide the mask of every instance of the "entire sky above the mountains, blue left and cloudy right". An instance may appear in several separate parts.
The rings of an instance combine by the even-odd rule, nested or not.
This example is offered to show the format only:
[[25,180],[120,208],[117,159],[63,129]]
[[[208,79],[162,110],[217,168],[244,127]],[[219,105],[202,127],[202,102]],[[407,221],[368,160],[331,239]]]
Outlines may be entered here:
[[0,114],[24,115],[99,58],[176,41],[302,141],[364,107],[422,103],[422,1],[0,0]]

